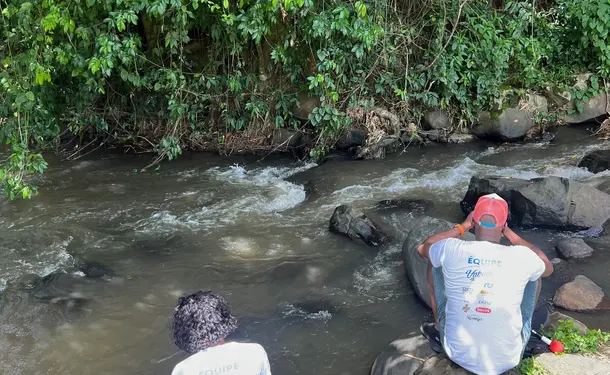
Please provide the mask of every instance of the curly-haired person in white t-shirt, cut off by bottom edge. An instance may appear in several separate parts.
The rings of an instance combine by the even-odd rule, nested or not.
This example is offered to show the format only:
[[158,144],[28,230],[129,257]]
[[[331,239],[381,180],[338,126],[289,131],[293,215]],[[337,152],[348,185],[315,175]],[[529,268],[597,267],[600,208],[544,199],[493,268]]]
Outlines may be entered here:
[[197,292],[178,301],[172,337],[192,355],[172,375],[271,375],[265,349],[259,344],[225,342],[237,328],[227,301],[212,292]]

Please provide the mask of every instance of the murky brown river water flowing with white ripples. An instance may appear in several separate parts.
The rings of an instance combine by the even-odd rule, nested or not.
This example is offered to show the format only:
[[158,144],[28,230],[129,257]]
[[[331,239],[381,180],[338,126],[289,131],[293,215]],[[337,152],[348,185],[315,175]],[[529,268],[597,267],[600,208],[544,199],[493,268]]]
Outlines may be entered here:
[[[52,160],[38,197],[0,203],[0,373],[169,374],[185,358],[169,337],[176,300],[211,289],[239,317],[236,337],[267,349],[274,374],[365,375],[387,343],[428,315],[399,255],[416,219],[372,209],[377,202],[429,199],[432,215],[457,221],[471,176],[596,183],[576,164],[602,147],[610,143],[561,129],[551,145],[431,145],[319,166],[191,155],[137,173],[146,159]],[[346,203],[370,209],[396,241],[379,250],[329,233],[334,208]],[[524,233],[550,256],[568,235]],[[610,249],[597,247],[595,261],[575,266],[610,291]],[[116,276],[86,278],[72,271],[75,258]],[[59,287],[87,303],[10,292],[23,275],[57,271],[69,272]],[[604,328],[601,317],[579,316]]]

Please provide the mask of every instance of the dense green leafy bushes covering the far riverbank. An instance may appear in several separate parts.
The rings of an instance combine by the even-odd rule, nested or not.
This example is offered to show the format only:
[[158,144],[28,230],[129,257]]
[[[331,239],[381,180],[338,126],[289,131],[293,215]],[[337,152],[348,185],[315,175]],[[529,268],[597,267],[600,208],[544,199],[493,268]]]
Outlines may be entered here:
[[258,150],[284,127],[312,133],[318,156],[350,107],[443,107],[467,126],[506,86],[610,72],[607,1],[496,3],[0,0],[4,191],[29,197],[38,152],[65,144],[171,160]]

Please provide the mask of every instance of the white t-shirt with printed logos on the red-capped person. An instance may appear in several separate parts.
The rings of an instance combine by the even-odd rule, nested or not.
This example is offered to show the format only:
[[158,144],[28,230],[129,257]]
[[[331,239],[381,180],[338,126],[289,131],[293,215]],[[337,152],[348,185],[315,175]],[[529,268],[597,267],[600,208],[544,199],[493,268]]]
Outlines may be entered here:
[[445,278],[449,358],[478,375],[519,364],[523,291],[544,273],[542,259],[524,246],[448,238],[430,247],[430,261]]

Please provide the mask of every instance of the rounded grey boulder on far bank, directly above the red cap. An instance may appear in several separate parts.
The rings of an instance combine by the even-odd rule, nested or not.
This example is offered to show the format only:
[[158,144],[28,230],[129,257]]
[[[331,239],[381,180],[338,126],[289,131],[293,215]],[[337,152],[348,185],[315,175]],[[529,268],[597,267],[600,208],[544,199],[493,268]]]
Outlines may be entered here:
[[518,101],[508,109],[503,109],[506,100],[498,103],[493,112],[482,112],[472,132],[479,138],[499,141],[515,141],[525,137],[526,133],[535,125],[537,113],[548,111],[547,101],[544,97],[530,94],[527,103]]

